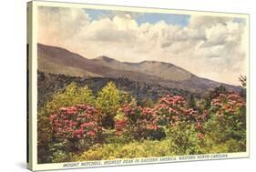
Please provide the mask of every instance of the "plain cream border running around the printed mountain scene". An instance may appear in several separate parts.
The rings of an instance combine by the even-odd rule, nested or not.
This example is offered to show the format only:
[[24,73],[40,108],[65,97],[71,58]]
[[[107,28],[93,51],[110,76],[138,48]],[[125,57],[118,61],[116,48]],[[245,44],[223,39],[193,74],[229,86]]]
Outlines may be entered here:
[[[247,32],[247,59],[248,59],[248,66],[249,66],[249,15],[248,14],[231,14],[231,13],[219,13],[219,12],[200,12],[200,11],[189,11],[189,10],[172,10],[172,9],[160,9],[160,8],[145,8],[145,7],[133,7],[133,6],[117,6],[117,5],[87,5],[87,4],[74,4],[74,3],[60,3],[60,2],[45,2],[45,1],[33,1],[32,2],[32,9],[33,9],[33,30],[32,30],[32,78],[30,78],[30,81],[32,81],[32,102],[30,102],[30,105],[32,104],[32,170],[46,170],[46,169],[65,169],[65,168],[72,168],[72,167],[63,167],[67,164],[77,163],[77,162],[68,162],[68,163],[51,163],[51,164],[37,164],[37,7],[38,6],[56,6],[56,7],[73,7],[73,8],[93,8],[93,9],[107,9],[107,10],[119,10],[119,11],[132,11],[132,12],[144,12],[144,13],[165,13],[165,14],[179,14],[179,15],[211,15],[211,16],[231,16],[231,17],[241,17],[246,19],[246,30]],[[247,76],[249,74],[249,67],[247,67]],[[249,81],[248,81],[249,86]],[[237,158],[237,157],[250,157],[250,132],[249,132],[249,88],[247,88],[247,148],[246,152],[244,153],[229,153],[229,154],[219,154],[219,155],[226,155],[227,157],[220,157],[220,158],[211,158],[211,156],[217,155],[217,154],[209,154],[209,158],[195,158],[195,159],[189,159],[189,160],[169,160],[169,161],[156,161],[156,162],[145,162],[145,163],[133,163],[129,165],[139,165],[139,164],[155,164],[155,163],[166,163],[166,162],[183,162],[183,161],[196,161],[196,160],[210,160],[210,159],[228,159],[228,158]],[[31,118],[30,118],[31,119]],[[184,157],[184,156],[179,156]],[[179,157],[176,157],[179,159]],[[197,155],[194,155],[192,157],[197,157]],[[148,157],[148,158],[161,158],[161,157]],[[142,159],[142,158],[139,158]],[[94,161],[94,162],[100,162],[102,165],[96,165],[96,166],[89,166],[89,167],[109,167],[109,166],[127,166],[128,164],[112,164],[112,165],[104,165],[104,163],[108,160],[102,160],[102,161]],[[80,167],[87,167],[87,166],[81,166],[81,163],[79,163]]]

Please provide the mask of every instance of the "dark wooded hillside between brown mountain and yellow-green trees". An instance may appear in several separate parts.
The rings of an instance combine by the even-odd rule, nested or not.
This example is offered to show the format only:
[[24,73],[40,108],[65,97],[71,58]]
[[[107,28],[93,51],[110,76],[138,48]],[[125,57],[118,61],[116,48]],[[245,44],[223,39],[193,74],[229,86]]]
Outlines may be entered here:
[[[137,81],[129,80],[128,78],[102,78],[102,77],[79,77],[79,76],[65,76],[56,74],[46,74],[43,72],[37,73],[38,77],[38,106],[43,106],[56,92],[63,91],[65,86],[71,82],[77,83],[78,86],[87,85],[97,96],[97,92],[101,90],[103,86],[109,81],[112,81],[118,86],[118,89],[128,91],[132,96],[135,96],[138,101],[151,99],[153,101],[158,100],[159,97],[167,94],[190,96],[189,91],[170,88],[167,86],[152,85]],[[194,94],[195,97],[200,97],[200,94]]]

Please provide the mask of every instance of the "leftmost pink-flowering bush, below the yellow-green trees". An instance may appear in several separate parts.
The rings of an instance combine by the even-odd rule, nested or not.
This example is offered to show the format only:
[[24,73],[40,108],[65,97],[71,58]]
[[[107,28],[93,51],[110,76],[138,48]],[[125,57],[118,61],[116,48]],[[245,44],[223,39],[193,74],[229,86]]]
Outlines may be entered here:
[[[52,133],[56,139],[67,139],[73,146],[71,151],[85,149],[97,142],[102,127],[97,125],[97,110],[93,106],[77,105],[61,107],[59,112],[49,116]],[[82,140],[82,146],[79,141]]]

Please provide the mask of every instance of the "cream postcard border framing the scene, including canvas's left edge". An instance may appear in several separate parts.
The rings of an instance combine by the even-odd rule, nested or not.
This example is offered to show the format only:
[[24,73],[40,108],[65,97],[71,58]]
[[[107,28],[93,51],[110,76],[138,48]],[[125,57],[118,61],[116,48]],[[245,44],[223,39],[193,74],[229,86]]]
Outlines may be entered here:
[[[31,143],[29,147],[29,163],[27,164],[27,167],[32,170],[46,170],[46,169],[70,169],[74,167],[64,167],[65,164],[72,164],[72,163],[78,163],[78,162],[67,162],[67,163],[51,163],[51,164],[37,164],[37,7],[38,6],[56,6],[56,7],[74,7],[74,8],[92,8],[92,9],[104,9],[104,10],[118,10],[118,11],[131,11],[131,12],[143,12],[143,13],[164,13],[164,14],[178,14],[178,15],[211,15],[211,16],[231,16],[231,17],[241,17],[246,19],[246,45],[243,45],[247,49],[247,76],[249,76],[247,80],[247,147],[246,152],[243,153],[228,153],[228,154],[220,154],[220,155],[227,155],[228,157],[223,158],[217,158],[217,159],[230,159],[230,158],[242,158],[242,157],[250,157],[250,15],[249,14],[235,14],[235,13],[223,13],[223,12],[206,12],[206,11],[193,11],[193,10],[183,10],[183,9],[166,9],[166,8],[154,8],[154,7],[137,7],[137,6],[121,6],[121,5],[92,5],[92,4],[80,4],[80,3],[62,3],[62,2],[46,2],[46,1],[32,1],[29,2],[27,5],[31,4],[32,7],[32,40],[31,40],[31,52],[29,51],[29,55],[32,55],[31,58],[29,58],[29,66],[30,67],[30,73],[29,76],[30,85],[30,95],[29,97],[29,136],[31,136]],[[32,60],[33,59],[33,60]],[[206,154],[206,155],[212,155],[212,154]],[[216,155],[216,154],[214,154]],[[197,156],[197,155],[193,155]],[[181,156],[177,156],[179,158]],[[151,157],[148,157],[151,158]],[[153,157],[152,157],[153,158]],[[160,157],[155,157],[160,158]],[[139,158],[141,159],[141,158]],[[159,163],[172,163],[172,162],[187,162],[187,161],[201,161],[201,160],[212,160],[212,158],[206,158],[206,159],[189,159],[189,160],[175,160],[175,161],[167,161],[167,162],[146,162],[146,163],[137,163],[137,164],[112,164],[112,165],[103,165],[103,166],[89,166],[89,167],[111,167],[111,166],[130,166],[130,165],[145,165],[145,164],[159,164]],[[104,164],[104,161],[108,160],[102,160],[101,163]],[[96,161],[95,161],[96,162]],[[76,168],[82,168],[84,166],[79,166]]]

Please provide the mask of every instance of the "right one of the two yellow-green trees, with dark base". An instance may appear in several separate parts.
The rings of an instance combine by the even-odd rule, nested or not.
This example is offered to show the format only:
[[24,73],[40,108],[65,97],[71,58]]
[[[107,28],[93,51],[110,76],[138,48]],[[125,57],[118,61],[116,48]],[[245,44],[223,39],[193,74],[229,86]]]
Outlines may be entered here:
[[97,95],[96,106],[101,110],[102,126],[114,128],[114,116],[120,107],[120,91],[113,82],[108,82]]

